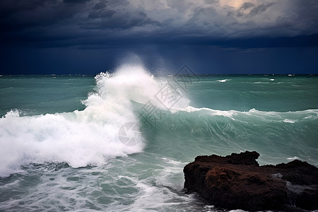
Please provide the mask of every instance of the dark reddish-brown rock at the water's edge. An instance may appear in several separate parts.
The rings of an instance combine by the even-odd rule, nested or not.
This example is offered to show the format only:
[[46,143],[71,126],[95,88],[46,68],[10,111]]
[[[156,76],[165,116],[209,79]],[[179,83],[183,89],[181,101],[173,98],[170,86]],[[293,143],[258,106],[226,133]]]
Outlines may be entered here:
[[318,168],[300,160],[257,163],[259,153],[198,156],[184,167],[184,188],[220,208],[300,211],[318,208]]

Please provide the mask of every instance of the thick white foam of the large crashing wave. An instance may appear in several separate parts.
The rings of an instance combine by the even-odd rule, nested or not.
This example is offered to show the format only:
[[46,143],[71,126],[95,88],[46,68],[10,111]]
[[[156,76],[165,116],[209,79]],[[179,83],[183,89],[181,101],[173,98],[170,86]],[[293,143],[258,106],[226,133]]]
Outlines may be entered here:
[[[107,158],[138,153],[144,142],[125,146],[119,128],[137,122],[131,100],[165,107],[156,98],[165,82],[158,83],[141,66],[122,66],[114,74],[95,77],[96,92],[83,101],[86,109],[60,114],[20,117],[18,110],[0,119],[0,176],[20,172],[28,163],[66,162],[72,167],[100,165]],[[175,107],[187,106],[180,98]]]

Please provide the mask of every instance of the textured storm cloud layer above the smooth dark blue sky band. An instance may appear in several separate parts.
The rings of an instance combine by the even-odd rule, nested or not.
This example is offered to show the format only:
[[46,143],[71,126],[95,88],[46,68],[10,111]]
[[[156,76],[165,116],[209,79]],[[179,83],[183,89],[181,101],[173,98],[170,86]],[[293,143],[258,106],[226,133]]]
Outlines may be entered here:
[[318,33],[318,1],[235,2],[1,0],[0,39],[6,45],[28,42],[84,49],[83,45],[100,48],[127,42],[222,46],[224,40]]

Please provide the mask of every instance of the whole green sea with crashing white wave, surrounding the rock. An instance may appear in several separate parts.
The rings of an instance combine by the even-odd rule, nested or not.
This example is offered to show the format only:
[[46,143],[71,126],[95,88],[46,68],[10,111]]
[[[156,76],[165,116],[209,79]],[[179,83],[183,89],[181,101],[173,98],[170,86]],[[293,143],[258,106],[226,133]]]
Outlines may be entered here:
[[1,76],[0,117],[0,211],[223,211],[197,155],[318,166],[317,76]]

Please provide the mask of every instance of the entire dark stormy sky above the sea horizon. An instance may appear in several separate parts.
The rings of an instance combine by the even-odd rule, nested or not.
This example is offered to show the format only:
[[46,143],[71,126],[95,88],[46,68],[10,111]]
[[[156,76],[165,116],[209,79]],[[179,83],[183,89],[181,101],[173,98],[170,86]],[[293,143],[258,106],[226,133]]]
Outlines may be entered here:
[[316,0],[1,0],[0,74],[318,73]]

